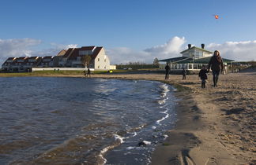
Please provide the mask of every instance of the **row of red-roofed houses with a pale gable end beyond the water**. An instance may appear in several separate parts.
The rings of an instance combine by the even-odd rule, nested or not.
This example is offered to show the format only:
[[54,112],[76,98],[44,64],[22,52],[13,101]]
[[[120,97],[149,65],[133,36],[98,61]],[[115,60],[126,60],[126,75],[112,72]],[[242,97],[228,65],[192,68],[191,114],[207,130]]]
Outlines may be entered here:
[[91,57],[89,68],[110,70],[110,60],[102,46],[62,49],[56,56],[9,57],[3,64],[6,72],[31,72],[32,68],[85,68],[83,57]]

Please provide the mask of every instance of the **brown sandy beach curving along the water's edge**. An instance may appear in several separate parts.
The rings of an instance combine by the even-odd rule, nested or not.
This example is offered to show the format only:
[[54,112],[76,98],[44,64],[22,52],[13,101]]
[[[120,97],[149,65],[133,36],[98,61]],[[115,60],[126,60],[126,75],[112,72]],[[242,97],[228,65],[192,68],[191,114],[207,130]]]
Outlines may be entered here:
[[[168,83],[178,91],[179,121],[168,138],[156,147],[152,164],[253,164],[255,144],[256,71],[220,75],[219,86],[209,83],[201,89],[198,75],[104,74],[102,79],[154,80]],[[36,75],[40,76],[40,75]],[[51,76],[51,75],[44,75]],[[84,75],[53,75],[85,77]],[[242,84],[241,84],[242,83]],[[249,114],[249,115],[248,115]]]

